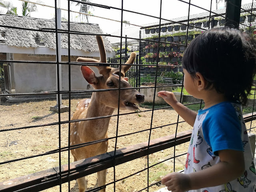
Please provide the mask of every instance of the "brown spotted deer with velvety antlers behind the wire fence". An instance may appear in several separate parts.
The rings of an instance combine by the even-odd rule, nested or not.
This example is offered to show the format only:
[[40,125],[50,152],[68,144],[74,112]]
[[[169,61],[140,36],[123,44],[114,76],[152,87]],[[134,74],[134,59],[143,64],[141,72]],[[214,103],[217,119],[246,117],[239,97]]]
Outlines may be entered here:
[[[77,58],[77,62],[99,62],[106,63],[106,50],[102,36],[96,36],[98,48],[100,51],[100,60],[93,58]],[[86,119],[100,116],[111,116],[115,109],[138,110],[138,106],[135,103],[144,102],[144,95],[140,94],[138,90],[133,88],[128,83],[128,78],[125,77],[125,73],[133,64],[136,58],[136,53],[132,52],[130,58],[119,68],[112,68],[110,66],[96,66],[99,73],[102,76],[96,76],[95,72],[88,66],[81,66],[81,72],[85,80],[93,86],[94,89],[115,89],[109,91],[93,92],[90,99],[83,99],[78,102],[76,111],[72,116],[72,120]],[[121,68],[121,69],[120,69]],[[121,73],[120,73],[121,72]],[[120,79],[120,81],[119,81]],[[130,88],[119,90],[117,88]],[[90,120],[72,122],[70,125],[70,145],[76,145],[85,142],[92,142],[95,140],[108,138],[108,126],[110,117],[106,118],[94,118]],[[74,157],[74,162],[104,154],[108,150],[108,140],[103,142],[94,143],[88,146],[72,149],[71,154]],[[104,186],[106,184],[107,170],[97,172],[98,186]],[[85,177],[78,178],[79,192],[86,190]],[[100,190],[105,192],[106,188]]]

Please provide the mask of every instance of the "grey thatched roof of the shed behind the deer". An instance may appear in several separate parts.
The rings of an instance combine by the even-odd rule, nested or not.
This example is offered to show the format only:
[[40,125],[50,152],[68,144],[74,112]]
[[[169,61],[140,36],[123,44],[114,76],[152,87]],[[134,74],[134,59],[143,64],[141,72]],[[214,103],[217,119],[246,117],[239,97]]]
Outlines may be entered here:
[[[0,24],[4,26],[15,26],[20,28],[55,29],[54,20],[44,20],[23,16],[13,16],[0,14]],[[62,29],[68,30],[68,22],[62,22]],[[70,22],[70,30],[78,32],[89,32],[102,34],[98,24]],[[44,46],[56,49],[55,32],[38,32],[30,30],[20,30],[13,28],[0,27],[0,44],[17,47],[36,48]],[[113,52],[110,42],[103,36],[106,51]],[[68,48],[68,34],[62,34],[62,48]],[[84,50],[86,52],[98,52],[98,44],[95,36],[70,34],[70,48]]]

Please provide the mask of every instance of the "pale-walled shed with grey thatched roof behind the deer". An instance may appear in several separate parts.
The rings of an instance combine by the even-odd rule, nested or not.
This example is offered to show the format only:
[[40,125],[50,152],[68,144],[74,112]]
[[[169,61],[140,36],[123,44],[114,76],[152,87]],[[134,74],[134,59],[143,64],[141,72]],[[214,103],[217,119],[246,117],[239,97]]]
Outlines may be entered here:
[[[53,61],[56,62],[56,33],[54,20],[0,14],[0,52],[6,59],[14,61]],[[7,26],[7,27],[5,27]],[[10,26],[10,28],[8,28]],[[68,30],[68,22],[61,23],[62,30]],[[26,30],[29,29],[29,30]],[[38,30],[49,29],[49,32]],[[51,30],[52,31],[52,30]],[[70,22],[70,31],[102,34],[98,24]],[[103,36],[106,56],[113,57],[114,50]],[[68,61],[68,34],[62,33],[62,62]],[[70,34],[70,60],[75,62],[79,56],[100,59],[98,44],[94,35]],[[0,60],[0,62],[1,62]],[[38,93],[56,91],[56,64],[2,62],[6,93]],[[98,74],[98,70],[92,67]],[[68,90],[68,65],[62,64],[62,90]],[[84,80],[80,66],[71,65],[71,90],[86,90],[90,86]],[[37,96],[14,96],[9,100],[40,98]],[[53,95],[52,95],[53,96]],[[49,95],[48,95],[49,97]]]

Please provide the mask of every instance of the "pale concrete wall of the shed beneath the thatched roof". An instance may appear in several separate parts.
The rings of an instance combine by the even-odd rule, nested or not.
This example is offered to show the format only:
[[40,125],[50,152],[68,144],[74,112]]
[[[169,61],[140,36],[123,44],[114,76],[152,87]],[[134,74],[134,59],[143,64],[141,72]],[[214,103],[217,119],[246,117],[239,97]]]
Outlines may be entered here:
[[[96,59],[99,58],[96,57]],[[14,60],[56,61],[56,57],[52,55],[14,54]],[[68,58],[63,57],[62,61],[68,61]],[[72,57],[71,61],[75,62],[76,57]],[[92,69],[99,76],[98,69],[95,67],[92,67]],[[14,81],[15,93],[55,91],[56,64],[14,63]],[[71,65],[71,90],[85,90],[88,88],[87,85],[88,82],[82,76],[80,66]],[[66,64],[62,65],[62,90],[68,90],[68,65]]]

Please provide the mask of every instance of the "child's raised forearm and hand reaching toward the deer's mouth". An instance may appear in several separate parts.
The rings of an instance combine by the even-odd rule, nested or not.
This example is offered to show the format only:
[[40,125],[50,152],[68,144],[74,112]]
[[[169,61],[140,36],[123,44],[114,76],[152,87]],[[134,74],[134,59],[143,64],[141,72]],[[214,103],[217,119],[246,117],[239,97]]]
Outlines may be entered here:
[[162,97],[166,103],[168,103],[172,108],[192,127],[194,126],[194,122],[196,120],[197,113],[190,110],[186,106],[182,105],[176,99],[173,92],[168,91],[160,91],[158,92],[158,96]]

